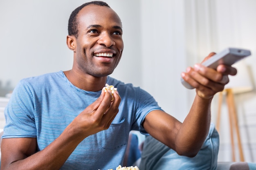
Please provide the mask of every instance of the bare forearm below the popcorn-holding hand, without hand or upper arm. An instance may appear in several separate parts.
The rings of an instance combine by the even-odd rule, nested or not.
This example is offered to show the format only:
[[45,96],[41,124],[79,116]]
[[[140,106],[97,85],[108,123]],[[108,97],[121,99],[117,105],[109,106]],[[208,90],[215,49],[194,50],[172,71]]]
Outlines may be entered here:
[[83,140],[82,137],[74,135],[72,127],[67,126],[63,133],[45,149],[27,157],[21,153],[22,156],[19,156],[19,160],[13,160],[12,163],[2,166],[1,169],[59,170],[81,140]]

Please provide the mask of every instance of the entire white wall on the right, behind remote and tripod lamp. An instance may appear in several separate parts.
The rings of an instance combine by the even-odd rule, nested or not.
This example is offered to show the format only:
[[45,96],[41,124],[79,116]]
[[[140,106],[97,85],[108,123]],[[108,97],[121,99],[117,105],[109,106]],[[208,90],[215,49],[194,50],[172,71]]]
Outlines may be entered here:
[[[255,0],[141,0],[143,87],[168,113],[183,120],[194,91],[179,81],[186,66],[227,47],[250,49],[245,62],[256,75]],[[160,87],[159,87],[160,85]],[[159,88],[156,88],[159,87]],[[256,92],[235,96],[245,161],[256,161]],[[218,95],[212,104],[216,122]],[[232,161],[229,119],[222,104],[219,161]],[[237,144],[237,141],[235,141]],[[236,150],[238,161],[238,150]]]

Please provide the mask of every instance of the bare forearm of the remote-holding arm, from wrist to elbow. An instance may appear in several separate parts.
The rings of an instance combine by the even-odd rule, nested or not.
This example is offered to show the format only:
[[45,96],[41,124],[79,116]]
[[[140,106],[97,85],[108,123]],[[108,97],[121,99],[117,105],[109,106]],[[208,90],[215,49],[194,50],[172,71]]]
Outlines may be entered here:
[[180,155],[193,157],[202,147],[211,123],[211,100],[196,95],[176,137],[175,146]]

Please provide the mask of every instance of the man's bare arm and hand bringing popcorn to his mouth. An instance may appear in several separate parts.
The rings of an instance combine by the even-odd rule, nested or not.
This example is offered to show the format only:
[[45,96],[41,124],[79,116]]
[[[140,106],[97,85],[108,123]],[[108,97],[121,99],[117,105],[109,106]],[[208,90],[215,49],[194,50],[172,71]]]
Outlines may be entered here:
[[[107,95],[105,95],[107,94]],[[45,149],[37,151],[36,138],[4,138],[1,143],[1,170],[59,170],[76,146],[85,138],[109,128],[118,113],[118,92],[102,91]]]

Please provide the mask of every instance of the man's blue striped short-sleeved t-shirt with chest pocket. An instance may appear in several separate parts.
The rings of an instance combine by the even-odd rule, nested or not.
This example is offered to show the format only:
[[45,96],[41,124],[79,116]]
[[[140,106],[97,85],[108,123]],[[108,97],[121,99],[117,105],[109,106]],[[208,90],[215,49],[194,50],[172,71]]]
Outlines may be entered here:
[[[115,169],[124,159],[130,130],[146,133],[141,126],[146,115],[161,110],[139,87],[112,77],[106,83],[115,86],[121,96],[119,113],[107,130],[86,137],[61,170]],[[62,71],[22,79],[4,110],[2,138],[34,137],[38,151],[43,150],[100,94],[72,85]]]

